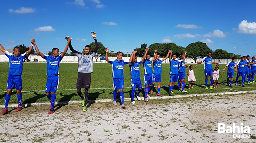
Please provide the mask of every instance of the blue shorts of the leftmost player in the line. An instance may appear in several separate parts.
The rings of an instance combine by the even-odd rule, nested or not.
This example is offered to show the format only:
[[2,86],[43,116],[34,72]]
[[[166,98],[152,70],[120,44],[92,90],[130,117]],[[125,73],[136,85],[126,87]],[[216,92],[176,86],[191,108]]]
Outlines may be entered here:
[[7,89],[22,90],[22,76],[9,75],[7,80]]

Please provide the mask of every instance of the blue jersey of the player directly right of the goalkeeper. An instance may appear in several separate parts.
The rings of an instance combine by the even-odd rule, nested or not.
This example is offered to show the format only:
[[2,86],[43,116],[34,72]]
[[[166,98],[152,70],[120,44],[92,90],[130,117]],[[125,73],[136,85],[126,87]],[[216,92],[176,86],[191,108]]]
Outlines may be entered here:
[[115,59],[115,61],[109,61],[108,63],[112,64],[112,78],[124,78],[124,65],[129,62]]

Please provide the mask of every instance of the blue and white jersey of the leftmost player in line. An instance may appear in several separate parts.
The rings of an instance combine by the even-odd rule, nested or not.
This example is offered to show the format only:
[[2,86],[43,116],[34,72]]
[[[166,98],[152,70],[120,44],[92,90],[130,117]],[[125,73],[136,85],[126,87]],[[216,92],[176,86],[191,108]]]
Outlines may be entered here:
[[27,56],[26,53],[15,57],[13,54],[5,51],[5,55],[9,58],[9,75],[22,75],[23,61]]

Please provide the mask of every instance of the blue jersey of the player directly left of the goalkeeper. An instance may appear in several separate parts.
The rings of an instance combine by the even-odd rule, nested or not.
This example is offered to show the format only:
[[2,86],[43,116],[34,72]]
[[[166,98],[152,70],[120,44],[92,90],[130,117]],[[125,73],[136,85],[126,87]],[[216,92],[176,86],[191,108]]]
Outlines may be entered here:
[[47,76],[59,75],[60,62],[63,59],[61,55],[52,57],[52,55],[43,55],[43,59],[47,61]]

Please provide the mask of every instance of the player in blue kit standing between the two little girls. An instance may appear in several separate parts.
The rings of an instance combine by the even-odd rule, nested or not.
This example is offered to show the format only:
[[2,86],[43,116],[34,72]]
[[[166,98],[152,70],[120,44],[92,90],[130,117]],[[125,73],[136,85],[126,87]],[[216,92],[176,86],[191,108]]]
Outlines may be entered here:
[[212,63],[218,65],[219,63],[212,62],[212,57],[210,57],[212,53],[207,52],[207,56],[202,59],[202,61],[198,62],[198,64],[201,64],[204,62],[204,74],[205,74],[205,89],[208,89],[208,78],[210,76],[210,89],[213,90],[213,67]]

